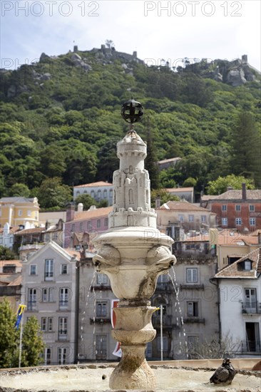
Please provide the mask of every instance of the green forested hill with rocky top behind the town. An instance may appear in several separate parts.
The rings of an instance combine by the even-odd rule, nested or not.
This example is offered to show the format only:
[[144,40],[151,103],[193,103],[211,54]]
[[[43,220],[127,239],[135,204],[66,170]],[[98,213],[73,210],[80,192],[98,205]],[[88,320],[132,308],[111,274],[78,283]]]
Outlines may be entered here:
[[43,53],[39,63],[1,70],[0,197],[17,182],[39,196],[48,178],[69,186],[111,180],[116,141],[128,129],[121,104],[132,95],[145,110],[136,130],[153,141],[155,159],[183,158],[160,175],[162,186],[193,177],[199,191],[229,173],[260,186],[257,71],[247,66],[244,84],[231,86],[229,74],[244,76],[238,63],[224,76],[220,60],[173,70],[117,53]]

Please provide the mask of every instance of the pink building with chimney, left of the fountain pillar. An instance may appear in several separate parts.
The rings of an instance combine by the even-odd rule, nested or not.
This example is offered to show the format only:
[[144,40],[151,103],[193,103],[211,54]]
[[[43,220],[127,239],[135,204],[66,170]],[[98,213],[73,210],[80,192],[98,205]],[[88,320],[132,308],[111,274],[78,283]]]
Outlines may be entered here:
[[88,211],[83,211],[83,205],[78,205],[75,211],[73,204],[69,205],[66,211],[66,222],[63,231],[63,247],[71,248],[75,244],[75,237],[84,237],[82,234],[91,234],[106,232],[108,230],[108,215],[113,207],[96,208],[92,206]]

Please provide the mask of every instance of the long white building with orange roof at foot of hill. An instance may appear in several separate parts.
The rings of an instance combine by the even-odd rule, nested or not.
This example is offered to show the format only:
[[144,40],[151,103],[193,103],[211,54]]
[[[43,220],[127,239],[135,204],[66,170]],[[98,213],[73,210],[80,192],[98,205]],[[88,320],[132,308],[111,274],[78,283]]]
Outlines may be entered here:
[[80,195],[90,195],[96,202],[107,200],[108,205],[113,205],[113,184],[111,182],[98,181],[90,184],[73,187],[73,200]]

